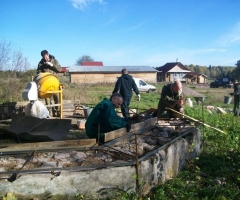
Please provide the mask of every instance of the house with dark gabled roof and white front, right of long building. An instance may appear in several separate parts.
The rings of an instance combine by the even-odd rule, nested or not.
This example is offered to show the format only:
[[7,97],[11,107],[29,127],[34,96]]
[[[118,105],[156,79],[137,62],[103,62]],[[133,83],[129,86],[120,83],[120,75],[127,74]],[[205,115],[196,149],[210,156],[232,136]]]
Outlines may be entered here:
[[191,72],[180,62],[166,63],[162,67],[156,69],[159,71],[157,73],[158,82],[172,82],[176,79],[181,82],[187,82],[187,73]]

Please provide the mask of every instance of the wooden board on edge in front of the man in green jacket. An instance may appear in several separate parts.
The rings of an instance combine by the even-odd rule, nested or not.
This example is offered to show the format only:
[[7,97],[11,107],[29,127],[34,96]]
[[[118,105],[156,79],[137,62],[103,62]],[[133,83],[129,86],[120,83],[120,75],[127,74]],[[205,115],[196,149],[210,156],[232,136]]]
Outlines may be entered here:
[[[147,126],[151,126],[151,125],[156,124],[156,123],[157,123],[157,117],[150,118],[150,119],[145,120],[143,122],[139,122],[139,123],[133,124],[131,126],[131,131],[130,132],[137,131],[138,129],[141,129],[141,128],[146,128]],[[108,142],[110,140],[114,140],[114,139],[116,139],[118,137],[121,137],[121,136],[127,134],[127,133],[128,132],[127,132],[126,128],[120,128],[118,130],[105,133],[104,134],[104,142]]]

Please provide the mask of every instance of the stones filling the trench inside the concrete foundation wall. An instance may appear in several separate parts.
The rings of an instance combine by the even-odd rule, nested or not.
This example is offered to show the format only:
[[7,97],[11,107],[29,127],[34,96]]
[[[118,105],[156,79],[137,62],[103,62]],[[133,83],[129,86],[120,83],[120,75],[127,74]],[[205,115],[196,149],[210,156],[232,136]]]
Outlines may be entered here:
[[[134,161],[137,156],[143,156],[149,151],[169,143],[181,133],[178,130],[181,121],[159,121],[152,131],[132,136],[128,142],[104,146],[95,150],[47,152],[31,155],[2,156],[0,172],[31,170],[42,168],[69,168],[75,166],[87,167],[107,165],[118,161]],[[137,142],[137,144],[136,144]]]

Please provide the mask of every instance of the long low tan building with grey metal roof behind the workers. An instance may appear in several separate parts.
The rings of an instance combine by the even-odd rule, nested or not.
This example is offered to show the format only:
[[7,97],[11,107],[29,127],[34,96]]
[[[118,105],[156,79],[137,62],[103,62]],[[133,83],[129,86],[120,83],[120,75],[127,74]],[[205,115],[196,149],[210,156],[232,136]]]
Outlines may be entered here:
[[114,83],[126,68],[129,75],[141,78],[149,83],[157,82],[157,72],[150,66],[69,66],[71,83]]

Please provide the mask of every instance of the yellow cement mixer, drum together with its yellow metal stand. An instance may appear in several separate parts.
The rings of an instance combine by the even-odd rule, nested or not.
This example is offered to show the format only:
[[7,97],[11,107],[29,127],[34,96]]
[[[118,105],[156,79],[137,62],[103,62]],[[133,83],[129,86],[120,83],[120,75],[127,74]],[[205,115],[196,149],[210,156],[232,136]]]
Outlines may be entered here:
[[[52,97],[54,94],[59,94],[59,104],[52,104],[53,106],[60,107],[60,118],[62,119],[62,89],[63,86],[60,84],[58,78],[49,72],[38,74],[34,78],[37,84],[38,98],[46,99]],[[49,105],[48,105],[49,107]]]

